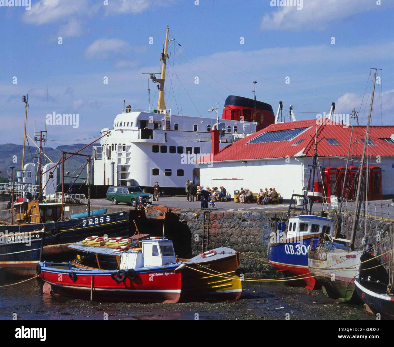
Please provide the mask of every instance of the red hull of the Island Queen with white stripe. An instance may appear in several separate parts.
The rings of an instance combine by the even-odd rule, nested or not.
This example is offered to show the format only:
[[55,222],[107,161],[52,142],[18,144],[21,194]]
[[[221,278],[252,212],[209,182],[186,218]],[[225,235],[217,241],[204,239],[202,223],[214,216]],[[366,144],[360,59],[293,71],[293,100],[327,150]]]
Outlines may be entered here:
[[[41,278],[51,285],[52,293],[93,300],[130,302],[178,302],[181,294],[181,274],[175,269],[155,269],[138,272],[134,280],[113,280],[113,271],[67,269],[66,266],[46,266],[41,263]],[[67,264],[66,264],[67,265]],[[76,278],[71,279],[74,272]]]

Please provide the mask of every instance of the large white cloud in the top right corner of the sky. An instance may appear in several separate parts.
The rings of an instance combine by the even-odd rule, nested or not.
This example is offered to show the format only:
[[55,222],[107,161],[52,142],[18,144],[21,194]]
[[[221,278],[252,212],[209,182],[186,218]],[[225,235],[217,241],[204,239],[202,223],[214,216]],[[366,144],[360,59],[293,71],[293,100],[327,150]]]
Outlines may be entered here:
[[[300,3],[300,0],[272,0],[270,5],[277,3]],[[265,14],[261,22],[262,30],[322,30],[335,21],[372,10],[384,10],[394,6],[385,2],[377,5],[375,0],[301,0],[302,6],[272,6],[274,12]]]

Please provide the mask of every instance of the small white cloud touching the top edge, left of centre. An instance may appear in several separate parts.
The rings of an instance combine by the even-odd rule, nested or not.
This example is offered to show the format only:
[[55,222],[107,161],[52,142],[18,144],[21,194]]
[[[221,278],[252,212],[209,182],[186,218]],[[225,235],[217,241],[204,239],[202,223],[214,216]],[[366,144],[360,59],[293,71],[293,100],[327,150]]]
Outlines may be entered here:
[[177,0],[109,0],[107,11],[112,13],[142,13],[147,9],[170,6]]

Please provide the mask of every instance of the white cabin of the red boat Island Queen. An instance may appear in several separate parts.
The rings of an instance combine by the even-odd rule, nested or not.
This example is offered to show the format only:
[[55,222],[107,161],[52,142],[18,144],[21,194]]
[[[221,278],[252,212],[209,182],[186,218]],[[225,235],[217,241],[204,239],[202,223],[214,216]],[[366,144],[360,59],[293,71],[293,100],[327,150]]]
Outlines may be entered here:
[[142,251],[130,249],[122,253],[120,269],[163,266],[177,262],[172,241],[153,237],[141,240],[141,243]]

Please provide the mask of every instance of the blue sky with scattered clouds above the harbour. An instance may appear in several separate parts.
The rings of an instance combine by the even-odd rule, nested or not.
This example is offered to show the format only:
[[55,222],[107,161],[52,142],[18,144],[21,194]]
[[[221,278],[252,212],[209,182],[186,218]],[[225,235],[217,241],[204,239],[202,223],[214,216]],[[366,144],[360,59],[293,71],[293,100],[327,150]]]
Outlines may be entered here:
[[3,144],[23,142],[26,94],[31,137],[47,114],[78,114],[78,127],[48,125],[49,147],[99,137],[123,100],[148,108],[142,73],[160,71],[167,25],[172,114],[214,117],[207,110],[228,95],[253,98],[256,81],[256,98],[274,112],[282,101],[283,114],[292,104],[297,120],[310,119],[335,102],[336,113],[355,108],[365,124],[376,67],[372,124],[394,124],[393,0],[25,2],[0,0]]

